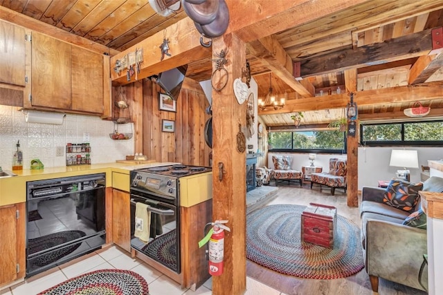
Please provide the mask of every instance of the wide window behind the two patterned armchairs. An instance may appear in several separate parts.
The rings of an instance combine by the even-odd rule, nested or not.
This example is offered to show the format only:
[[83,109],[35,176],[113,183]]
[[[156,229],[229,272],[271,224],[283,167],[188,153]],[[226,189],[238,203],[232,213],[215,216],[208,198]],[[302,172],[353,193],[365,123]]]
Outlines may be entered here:
[[341,131],[278,131],[269,133],[271,151],[345,153]]

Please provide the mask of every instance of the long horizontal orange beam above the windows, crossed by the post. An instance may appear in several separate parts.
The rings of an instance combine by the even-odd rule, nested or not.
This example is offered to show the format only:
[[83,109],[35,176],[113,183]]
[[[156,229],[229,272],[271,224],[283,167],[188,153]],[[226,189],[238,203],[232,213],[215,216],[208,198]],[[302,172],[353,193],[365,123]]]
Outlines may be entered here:
[[[419,85],[381,88],[370,91],[359,91],[354,95],[357,106],[373,106],[390,102],[416,102],[426,99],[441,99],[443,86]],[[303,97],[289,99],[280,110],[258,111],[258,115],[318,111],[330,108],[343,108],[349,102],[349,93],[327,95],[323,97]]]

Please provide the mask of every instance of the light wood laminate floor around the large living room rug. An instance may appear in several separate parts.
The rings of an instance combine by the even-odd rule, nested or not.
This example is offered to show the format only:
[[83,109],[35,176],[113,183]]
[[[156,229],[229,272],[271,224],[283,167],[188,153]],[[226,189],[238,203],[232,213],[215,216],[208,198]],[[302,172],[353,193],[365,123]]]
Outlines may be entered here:
[[[310,184],[278,186],[277,196],[269,204],[300,204],[308,205],[310,202],[328,204],[337,208],[338,214],[354,221],[360,227],[359,208],[347,207],[346,194],[343,190],[336,189],[335,196],[331,196],[330,190],[319,187],[309,188]],[[360,202],[359,202],[360,203]],[[365,269],[347,278],[334,280],[314,280],[307,278],[297,278],[273,272],[249,260],[246,262],[246,273],[248,277],[258,280],[264,285],[277,289],[282,294],[288,295],[370,295],[372,292],[370,281]],[[417,289],[406,287],[388,280],[379,280],[379,293],[382,295],[404,295],[417,294],[424,295]]]

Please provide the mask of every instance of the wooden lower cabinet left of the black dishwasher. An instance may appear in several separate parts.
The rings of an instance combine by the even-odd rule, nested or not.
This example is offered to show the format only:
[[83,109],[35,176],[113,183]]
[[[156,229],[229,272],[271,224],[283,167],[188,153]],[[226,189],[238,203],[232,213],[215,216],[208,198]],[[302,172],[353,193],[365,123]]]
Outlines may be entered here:
[[0,207],[0,287],[24,278],[26,203]]

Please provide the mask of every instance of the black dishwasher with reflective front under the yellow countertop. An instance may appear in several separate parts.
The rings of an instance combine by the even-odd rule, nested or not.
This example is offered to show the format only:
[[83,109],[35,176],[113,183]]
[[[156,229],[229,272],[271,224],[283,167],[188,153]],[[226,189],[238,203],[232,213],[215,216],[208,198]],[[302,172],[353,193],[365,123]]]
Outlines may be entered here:
[[105,173],[26,183],[26,277],[105,244]]

